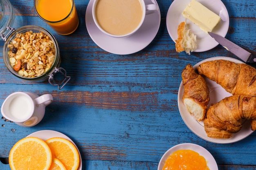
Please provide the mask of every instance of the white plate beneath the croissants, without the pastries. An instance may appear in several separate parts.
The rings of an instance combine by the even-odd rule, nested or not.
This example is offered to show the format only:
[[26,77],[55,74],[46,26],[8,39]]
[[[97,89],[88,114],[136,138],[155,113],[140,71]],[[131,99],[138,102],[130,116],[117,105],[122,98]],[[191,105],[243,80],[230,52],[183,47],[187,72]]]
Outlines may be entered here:
[[[236,60],[236,59],[230,58],[230,57],[211,57],[211,58],[208,58],[206,60],[203,60],[203,61],[195,64],[195,66],[193,66],[193,68],[197,68],[203,62],[213,61],[213,60],[228,60],[228,61],[235,62],[235,63],[243,63],[240,60]],[[206,81],[207,86],[209,87],[209,91],[210,91],[210,101],[209,101],[208,106],[219,102],[221,99],[224,99],[225,97],[231,96],[231,94],[228,93],[227,91],[225,91],[225,89],[222,88],[219,84],[211,81],[207,77],[204,77],[204,78],[205,78],[205,81]],[[184,93],[184,86],[183,86],[183,82],[181,82],[179,92],[178,92],[178,107],[180,110],[180,115],[181,115],[184,123],[186,124],[186,126],[188,126],[188,128],[192,132],[194,132],[195,135],[198,135],[202,139],[216,143],[216,144],[230,144],[230,143],[234,143],[236,141],[245,139],[247,136],[251,135],[252,132],[254,132],[253,130],[251,130],[250,120],[246,120],[243,123],[242,129],[239,132],[232,134],[232,137],[229,139],[216,139],[216,138],[207,137],[207,134],[204,130],[204,122],[196,121],[194,119],[194,117],[192,117],[190,115],[190,113],[186,110],[186,108],[182,102],[183,93]]]

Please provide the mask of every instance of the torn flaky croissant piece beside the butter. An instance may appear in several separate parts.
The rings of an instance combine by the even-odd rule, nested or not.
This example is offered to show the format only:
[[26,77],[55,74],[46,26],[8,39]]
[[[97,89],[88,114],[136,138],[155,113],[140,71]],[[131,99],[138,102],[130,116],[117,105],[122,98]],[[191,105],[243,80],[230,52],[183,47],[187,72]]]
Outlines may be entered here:
[[178,38],[175,40],[175,49],[178,53],[186,51],[190,55],[196,49],[196,35],[189,32],[186,22],[181,22],[178,26]]

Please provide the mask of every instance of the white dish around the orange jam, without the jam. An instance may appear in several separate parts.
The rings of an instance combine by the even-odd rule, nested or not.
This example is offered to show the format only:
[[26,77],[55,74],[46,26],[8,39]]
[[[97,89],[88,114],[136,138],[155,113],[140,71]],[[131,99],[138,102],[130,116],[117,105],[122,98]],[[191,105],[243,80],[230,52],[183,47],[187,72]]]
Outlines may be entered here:
[[204,157],[204,159],[207,162],[207,166],[209,167],[210,170],[218,170],[218,165],[216,163],[216,160],[211,155],[211,153],[208,150],[206,150],[204,147],[197,144],[191,144],[191,143],[178,144],[168,149],[160,159],[157,170],[162,170],[166,159],[173,152],[176,152],[177,150],[193,150],[195,152],[198,152],[200,156]]

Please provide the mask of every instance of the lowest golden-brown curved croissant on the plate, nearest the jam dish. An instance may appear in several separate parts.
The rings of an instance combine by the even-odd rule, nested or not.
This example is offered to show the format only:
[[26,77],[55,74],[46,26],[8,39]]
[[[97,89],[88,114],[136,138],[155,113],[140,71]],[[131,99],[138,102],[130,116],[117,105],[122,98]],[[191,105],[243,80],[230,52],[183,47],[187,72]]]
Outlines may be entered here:
[[242,128],[243,119],[256,120],[256,97],[235,94],[209,107],[204,130],[208,137],[229,138]]

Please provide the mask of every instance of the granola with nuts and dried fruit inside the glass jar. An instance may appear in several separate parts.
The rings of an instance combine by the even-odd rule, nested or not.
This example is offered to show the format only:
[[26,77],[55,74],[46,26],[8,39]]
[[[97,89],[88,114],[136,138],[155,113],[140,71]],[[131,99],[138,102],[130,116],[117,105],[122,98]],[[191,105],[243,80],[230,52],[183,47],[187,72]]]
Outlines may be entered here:
[[55,60],[55,46],[43,32],[18,33],[8,44],[9,62],[20,76],[38,77],[48,71]]

